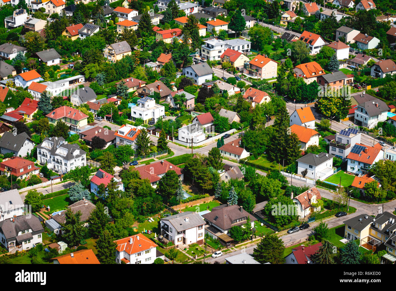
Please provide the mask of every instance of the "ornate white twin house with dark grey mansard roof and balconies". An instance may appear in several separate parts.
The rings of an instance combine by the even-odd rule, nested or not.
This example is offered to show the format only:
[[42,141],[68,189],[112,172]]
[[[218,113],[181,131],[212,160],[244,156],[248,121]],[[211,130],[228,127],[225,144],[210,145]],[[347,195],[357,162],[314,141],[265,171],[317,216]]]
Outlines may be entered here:
[[86,165],[86,152],[78,144],[69,144],[62,137],[44,138],[37,146],[37,161],[49,169],[65,173]]

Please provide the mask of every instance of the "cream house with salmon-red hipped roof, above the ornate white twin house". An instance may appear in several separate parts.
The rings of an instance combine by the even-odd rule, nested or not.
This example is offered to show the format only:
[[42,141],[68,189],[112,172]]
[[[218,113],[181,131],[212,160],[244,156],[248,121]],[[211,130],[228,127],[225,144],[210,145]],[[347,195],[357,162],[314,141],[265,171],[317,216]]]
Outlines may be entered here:
[[88,115],[69,106],[56,108],[48,113],[46,117],[49,123],[53,125],[55,125],[58,120],[65,121],[65,123],[69,125],[70,130],[74,132],[76,132],[78,128],[88,124]]

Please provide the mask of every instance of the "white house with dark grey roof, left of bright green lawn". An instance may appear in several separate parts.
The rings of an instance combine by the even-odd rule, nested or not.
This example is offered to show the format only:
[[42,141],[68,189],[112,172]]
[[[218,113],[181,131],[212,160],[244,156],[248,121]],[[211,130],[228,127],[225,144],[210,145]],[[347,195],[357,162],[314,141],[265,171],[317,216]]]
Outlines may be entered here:
[[316,180],[326,180],[333,175],[333,157],[328,153],[320,153],[315,155],[307,153],[297,160],[297,174],[303,175],[304,170],[308,170],[305,178]]

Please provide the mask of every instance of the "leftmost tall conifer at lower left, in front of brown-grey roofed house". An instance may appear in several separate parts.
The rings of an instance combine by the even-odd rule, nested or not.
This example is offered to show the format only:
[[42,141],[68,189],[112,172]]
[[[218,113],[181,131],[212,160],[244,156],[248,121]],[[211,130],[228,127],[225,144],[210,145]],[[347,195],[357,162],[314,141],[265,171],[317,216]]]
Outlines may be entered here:
[[62,239],[71,247],[78,246],[86,234],[86,228],[80,221],[80,217],[80,211],[74,214],[70,208],[67,208]]

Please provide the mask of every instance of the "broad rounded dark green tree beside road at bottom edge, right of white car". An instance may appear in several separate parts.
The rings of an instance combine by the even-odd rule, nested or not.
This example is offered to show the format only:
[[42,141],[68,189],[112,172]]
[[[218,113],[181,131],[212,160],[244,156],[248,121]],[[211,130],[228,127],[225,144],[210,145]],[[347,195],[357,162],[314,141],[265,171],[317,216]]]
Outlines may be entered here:
[[283,264],[285,246],[276,234],[267,234],[253,250],[253,258],[261,264]]

